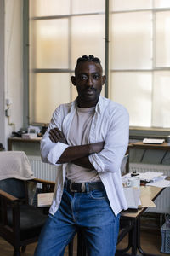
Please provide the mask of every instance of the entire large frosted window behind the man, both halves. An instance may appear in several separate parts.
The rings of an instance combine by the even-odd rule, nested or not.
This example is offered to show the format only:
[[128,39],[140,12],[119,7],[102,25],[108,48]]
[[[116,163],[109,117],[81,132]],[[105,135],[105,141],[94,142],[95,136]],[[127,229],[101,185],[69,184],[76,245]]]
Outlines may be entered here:
[[60,103],[77,96],[70,80],[77,57],[93,54],[106,68],[109,98],[127,108],[132,127],[170,128],[169,0],[29,5],[31,124],[48,123]]

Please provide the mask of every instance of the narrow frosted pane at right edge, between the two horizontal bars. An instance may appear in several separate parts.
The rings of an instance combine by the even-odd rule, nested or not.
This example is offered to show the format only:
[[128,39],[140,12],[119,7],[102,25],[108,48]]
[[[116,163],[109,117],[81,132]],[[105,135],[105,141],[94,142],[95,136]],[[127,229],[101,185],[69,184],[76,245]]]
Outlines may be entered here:
[[156,67],[170,66],[170,11],[156,13]]

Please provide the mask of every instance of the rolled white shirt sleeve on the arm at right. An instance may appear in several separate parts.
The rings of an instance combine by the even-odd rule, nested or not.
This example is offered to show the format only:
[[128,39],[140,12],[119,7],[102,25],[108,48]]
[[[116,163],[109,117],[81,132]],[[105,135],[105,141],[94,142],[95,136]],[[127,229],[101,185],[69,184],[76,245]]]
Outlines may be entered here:
[[129,117],[127,109],[119,107],[110,116],[104,149],[89,155],[89,161],[97,172],[119,172],[129,141]]

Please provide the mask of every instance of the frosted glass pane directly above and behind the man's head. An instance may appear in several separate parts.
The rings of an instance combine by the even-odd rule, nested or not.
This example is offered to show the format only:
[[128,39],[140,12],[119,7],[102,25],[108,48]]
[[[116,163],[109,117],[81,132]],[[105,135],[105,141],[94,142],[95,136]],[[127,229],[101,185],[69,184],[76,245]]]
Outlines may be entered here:
[[73,17],[71,21],[71,68],[82,55],[99,57],[105,63],[105,15]]

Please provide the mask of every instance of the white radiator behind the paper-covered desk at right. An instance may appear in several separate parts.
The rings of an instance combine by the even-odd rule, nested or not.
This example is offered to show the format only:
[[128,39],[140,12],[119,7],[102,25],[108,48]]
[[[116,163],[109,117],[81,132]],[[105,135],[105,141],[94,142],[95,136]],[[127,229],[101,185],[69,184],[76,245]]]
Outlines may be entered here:
[[[163,172],[170,177],[170,166],[151,165],[144,163],[129,163],[129,172]],[[156,208],[148,208],[147,212],[170,213],[170,187],[164,189],[155,200]]]

